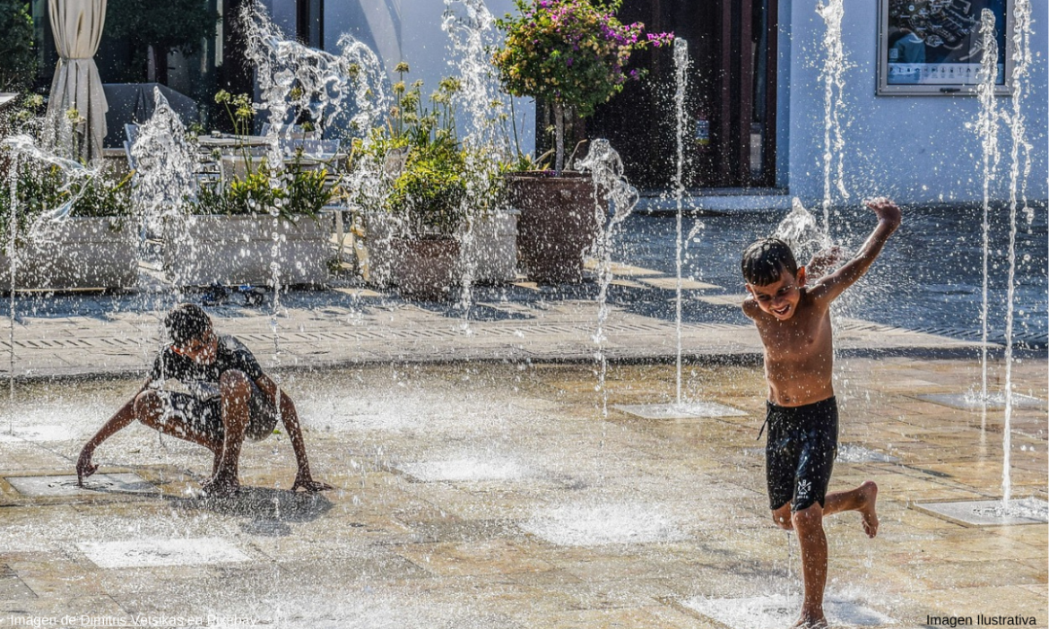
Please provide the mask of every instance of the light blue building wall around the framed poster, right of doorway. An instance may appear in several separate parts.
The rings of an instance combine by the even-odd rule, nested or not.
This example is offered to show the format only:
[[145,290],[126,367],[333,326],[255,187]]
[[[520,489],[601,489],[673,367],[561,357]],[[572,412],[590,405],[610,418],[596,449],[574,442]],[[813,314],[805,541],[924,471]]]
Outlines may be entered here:
[[[983,153],[966,125],[975,123],[975,96],[878,96],[877,0],[845,0],[845,185],[852,202],[887,195],[904,202],[978,201],[983,198]],[[1049,81],[1046,62],[1049,8],[1033,0],[1032,64],[1024,101],[1027,138],[1032,145],[1030,199],[1049,197],[1047,126]],[[823,84],[826,25],[817,0],[782,0],[780,23],[780,183],[807,203],[823,197]],[[999,97],[1011,110],[1010,96]],[[788,111],[784,112],[786,107]],[[783,142],[786,140],[786,142]],[[992,190],[1008,198],[1009,132],[1000,136],[1002,168]],[[786,172],[784,172],[786,168]]]

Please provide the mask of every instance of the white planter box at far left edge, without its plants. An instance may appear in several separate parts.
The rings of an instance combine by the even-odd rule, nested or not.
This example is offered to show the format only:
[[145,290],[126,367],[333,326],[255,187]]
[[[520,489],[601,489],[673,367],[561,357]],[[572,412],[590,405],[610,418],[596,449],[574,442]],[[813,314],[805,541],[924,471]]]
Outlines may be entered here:
[[[56,221],[15,253],[16,288],[128,288],[138,282],[137,225],[127,218]],[[0,289],[9,287],[10,259],[0,255]]]

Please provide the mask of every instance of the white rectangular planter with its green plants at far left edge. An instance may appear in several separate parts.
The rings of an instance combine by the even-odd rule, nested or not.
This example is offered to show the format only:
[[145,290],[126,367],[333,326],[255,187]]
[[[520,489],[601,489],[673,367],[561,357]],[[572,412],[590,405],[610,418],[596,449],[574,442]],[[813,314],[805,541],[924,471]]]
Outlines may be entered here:
[[0,194],[0,286],[46,290],[134,286],[138,232],[129,179],[84,168],[23,162],[16,176],[14,207],[8,191]]

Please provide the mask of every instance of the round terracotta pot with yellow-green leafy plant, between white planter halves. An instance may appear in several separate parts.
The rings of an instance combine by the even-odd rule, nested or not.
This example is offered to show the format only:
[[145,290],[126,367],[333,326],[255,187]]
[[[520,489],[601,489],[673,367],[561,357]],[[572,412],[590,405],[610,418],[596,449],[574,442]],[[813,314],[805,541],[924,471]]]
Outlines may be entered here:
[[[497,177],[470,168],[484,157],[471,154],[457,138],[458,82],[443,80],[427,104],[422,82],[404,82],[407,64],[397,69],[401,81],[393,86],[395,103],[388,124],[355,146],[354,169],[361,181],[355,205],[364,213],[369,281],[395,285],[412,297],[447,298],[462,274],[461,240],[467,223],[490,219],[501,185]],[[485,181],[472,180],[478,176]],[[486,194],[468,198],[468,188],[478,183]],[[491,233],[497,237],[495,229]]]

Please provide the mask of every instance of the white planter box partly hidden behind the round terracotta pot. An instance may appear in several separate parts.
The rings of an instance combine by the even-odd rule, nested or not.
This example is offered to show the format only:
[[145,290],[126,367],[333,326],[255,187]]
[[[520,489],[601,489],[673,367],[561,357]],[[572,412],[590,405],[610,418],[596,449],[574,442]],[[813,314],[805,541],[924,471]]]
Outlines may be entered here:
[[[512,282],[517,277],[516,210],[502,210],[480,217],[473,229],[473,243],[468,255],[474,282]],[[368,281],[380,286],[399,286],[406,261],[393,246],[394,222],[387,215],[368,216],[365,234],[368,251]],[[461,235],[462,236],[462,235]],[[463,256],[455,262],[454,281],[459,284],[465,274]]]

